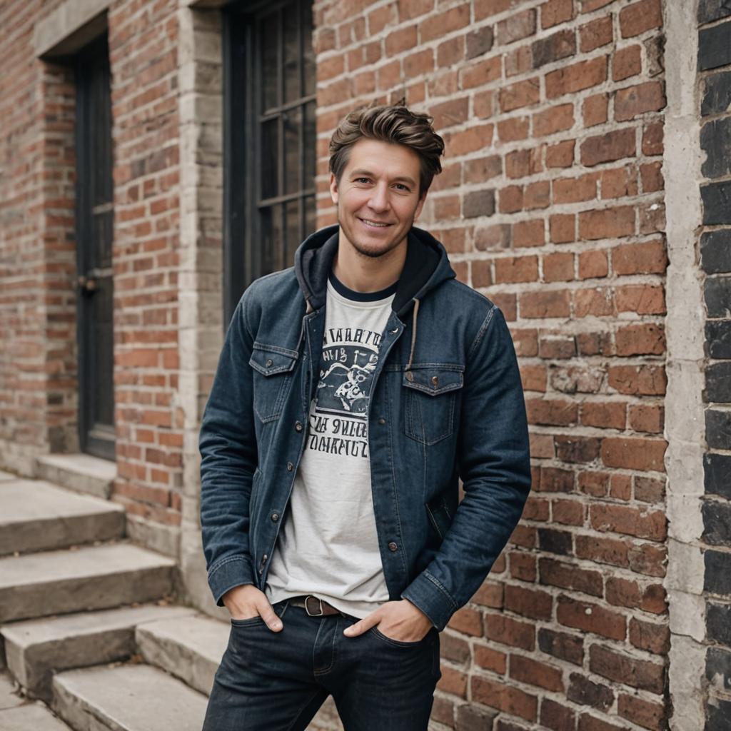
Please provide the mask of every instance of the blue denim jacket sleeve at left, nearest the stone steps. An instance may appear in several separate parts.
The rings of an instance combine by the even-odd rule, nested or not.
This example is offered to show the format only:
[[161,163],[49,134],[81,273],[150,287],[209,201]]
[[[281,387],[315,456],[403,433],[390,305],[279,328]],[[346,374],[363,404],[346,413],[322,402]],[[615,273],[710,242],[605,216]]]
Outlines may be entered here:
[[241,584],[255,584],[249,553],[249,496],[257,467],[251,405],[248,290],[228,327],[200,436],[200,525],[208,585],[216,604]]

